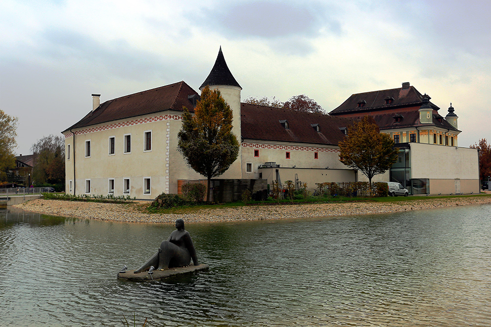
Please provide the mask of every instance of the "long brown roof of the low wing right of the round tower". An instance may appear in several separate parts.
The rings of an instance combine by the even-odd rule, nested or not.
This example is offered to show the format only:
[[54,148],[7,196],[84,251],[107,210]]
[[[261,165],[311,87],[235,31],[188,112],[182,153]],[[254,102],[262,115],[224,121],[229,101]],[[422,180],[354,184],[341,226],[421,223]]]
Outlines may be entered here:
[[[337,145],[353,119],[241,103],[244,139]],[[288,129],[280,121],[288,122]],[[315,124],[319,124],[317,132]]]

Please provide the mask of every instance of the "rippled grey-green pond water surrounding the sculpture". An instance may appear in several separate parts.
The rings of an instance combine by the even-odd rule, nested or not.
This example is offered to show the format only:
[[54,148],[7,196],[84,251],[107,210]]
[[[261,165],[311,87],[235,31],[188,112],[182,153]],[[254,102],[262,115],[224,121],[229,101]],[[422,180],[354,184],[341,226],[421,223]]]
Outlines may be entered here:
[[205,272],[116,279],[174,226],[0,212],[1,326],[489,326],[491,205],[187,224]]

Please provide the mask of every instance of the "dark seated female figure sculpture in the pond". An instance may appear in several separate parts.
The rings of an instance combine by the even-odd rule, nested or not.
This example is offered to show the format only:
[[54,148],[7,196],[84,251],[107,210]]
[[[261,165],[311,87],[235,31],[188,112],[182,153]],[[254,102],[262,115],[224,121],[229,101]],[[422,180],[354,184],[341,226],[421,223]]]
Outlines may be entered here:
[[162,242],[157,251],[147,262],[135,270],[135,274],[157,267],[156,270],[164,270],[173,267],[186,267],[192,262],[198,266],[196,251],[192,245],[191,235],[184,229],[184,220],[176,220],[176,228],[170,233],[169,238]]

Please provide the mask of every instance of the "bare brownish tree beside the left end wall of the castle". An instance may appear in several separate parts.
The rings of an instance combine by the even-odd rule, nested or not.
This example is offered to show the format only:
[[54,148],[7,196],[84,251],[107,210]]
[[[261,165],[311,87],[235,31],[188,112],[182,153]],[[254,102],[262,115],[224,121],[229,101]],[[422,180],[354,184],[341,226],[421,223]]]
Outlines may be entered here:
[[[55,184],[61,191],[65,183],[65,140],[62,136],[49,135],[32,145],[31,151],[37,154],[33,168],[36,184]],[[60,189],[61,188],[61,189]]]

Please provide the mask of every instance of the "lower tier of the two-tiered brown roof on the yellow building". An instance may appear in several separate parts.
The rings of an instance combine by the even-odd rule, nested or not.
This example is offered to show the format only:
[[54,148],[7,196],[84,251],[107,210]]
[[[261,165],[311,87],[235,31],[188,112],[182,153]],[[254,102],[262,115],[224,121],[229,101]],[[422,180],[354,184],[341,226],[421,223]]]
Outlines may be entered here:
[[[399,116],[399,122],[396,122],[394,117]],[[457,128],[449,124],[445,118],[439,114],[433,115],[433,124],[421,124],[419,122],[419,112],[418,111],[404,111],[398,112],[397,114],[380,114],[373,115],[375,122],[380,127],[381,130],[386,129],[396,129],[396,128],[414,128],[421,126],[435,126],[440,128],[445,128],[453,131],[459,131]],[[441,120],[441,122],[439,121]]]

